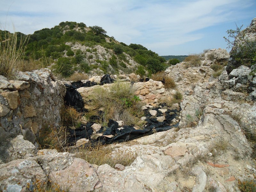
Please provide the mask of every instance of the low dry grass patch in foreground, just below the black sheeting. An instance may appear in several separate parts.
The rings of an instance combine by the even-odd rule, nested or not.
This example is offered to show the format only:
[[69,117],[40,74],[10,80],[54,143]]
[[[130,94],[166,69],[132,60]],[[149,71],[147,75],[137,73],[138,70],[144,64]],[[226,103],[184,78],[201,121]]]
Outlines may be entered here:
[[115,155],[112,155],[111,152],[112,149],[110,147],[97,143],[94,147],[87,145],[84,148],[77,149],[76,156],[84,159],[90,164],[108,164],[111,167],[115,167],[116,164],[129,166],[137,157],[137,154],[133,153],[118,152]]

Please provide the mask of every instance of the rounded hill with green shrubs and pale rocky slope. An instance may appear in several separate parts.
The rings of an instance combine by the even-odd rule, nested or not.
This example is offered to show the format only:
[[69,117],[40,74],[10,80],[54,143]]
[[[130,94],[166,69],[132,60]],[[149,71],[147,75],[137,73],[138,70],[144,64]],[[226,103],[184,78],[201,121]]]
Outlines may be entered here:
[[[9,42],[13,36],[8,31],[0,32],[1,42]],[[134,72],[143,76],[168,67],[157,53],[140,44],[118,42],[99,26],[87,27],[84,23],[66,21],[32,35],[20,32],[14,35],[17,36],[17,48],[20,43],[26,45],[23,59],[31,70],[49,67],[55,75],[62,77],[75,72],[92,75]],[[40,66],[35,66],[36,63]]]

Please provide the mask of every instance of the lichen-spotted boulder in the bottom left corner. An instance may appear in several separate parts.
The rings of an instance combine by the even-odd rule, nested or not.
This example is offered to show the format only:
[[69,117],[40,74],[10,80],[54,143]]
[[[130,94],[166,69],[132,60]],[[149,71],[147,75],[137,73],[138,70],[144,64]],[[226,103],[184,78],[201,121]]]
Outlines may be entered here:
[[0,164],[1,188],[6,191],[27,191],[35,185],[44,188],[47,176],[35,160],[17,159],[6,164]]

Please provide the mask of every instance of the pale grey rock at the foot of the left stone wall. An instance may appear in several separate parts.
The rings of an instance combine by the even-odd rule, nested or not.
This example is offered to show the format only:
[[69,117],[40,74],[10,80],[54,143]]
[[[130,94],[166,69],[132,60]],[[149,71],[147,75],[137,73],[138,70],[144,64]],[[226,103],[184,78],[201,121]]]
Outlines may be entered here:
[[15,139],[11,140],[12,144],[12,160],[28,158],[36,156],[36,147],[28,140],[23,139],[23,135],[18,135]]

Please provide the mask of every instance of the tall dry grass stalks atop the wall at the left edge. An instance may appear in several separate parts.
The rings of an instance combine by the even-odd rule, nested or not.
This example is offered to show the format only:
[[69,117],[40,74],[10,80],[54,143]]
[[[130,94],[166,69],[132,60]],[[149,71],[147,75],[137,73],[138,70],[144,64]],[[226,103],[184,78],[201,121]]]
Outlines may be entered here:
[[3,31],[0,36],[0,75],[15,78],[15,72],[24,66],[24,53],[28,36],[21,37],[18,43],[17,33]]

